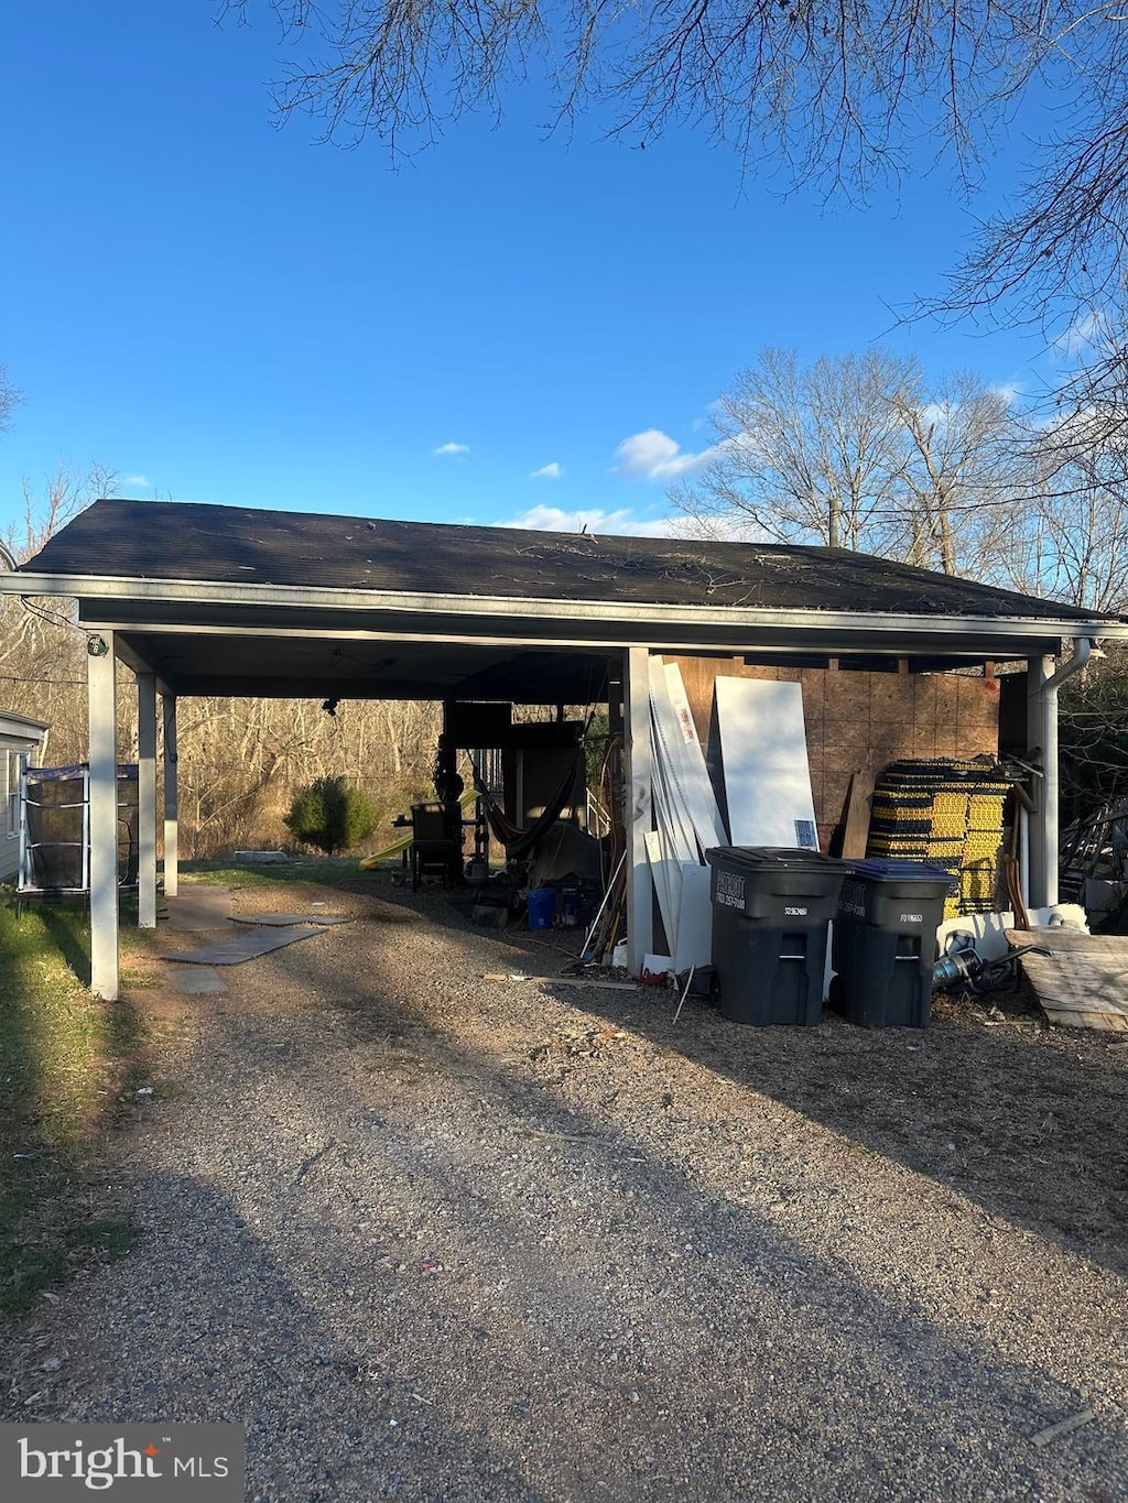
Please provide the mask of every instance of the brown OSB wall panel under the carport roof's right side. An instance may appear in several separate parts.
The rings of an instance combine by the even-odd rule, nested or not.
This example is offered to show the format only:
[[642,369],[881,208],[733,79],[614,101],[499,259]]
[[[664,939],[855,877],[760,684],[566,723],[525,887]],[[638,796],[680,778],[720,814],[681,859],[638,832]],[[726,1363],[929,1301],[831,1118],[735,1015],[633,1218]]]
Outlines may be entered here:
[[803,685],[815,818],[826,848],[850,774],[902,756],[972,758],[999,752],[999,682],[952,673],[853,673],[815,667],[749,667],[743,658],[669,657],[686,684],[708,747],[716,678],[770,678]]

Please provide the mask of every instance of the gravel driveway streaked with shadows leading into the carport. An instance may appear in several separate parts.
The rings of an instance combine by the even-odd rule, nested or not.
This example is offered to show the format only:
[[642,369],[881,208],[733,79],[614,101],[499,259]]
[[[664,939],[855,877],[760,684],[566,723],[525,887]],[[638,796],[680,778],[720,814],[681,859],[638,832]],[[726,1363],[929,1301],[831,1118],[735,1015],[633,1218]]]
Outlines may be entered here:
[[438,891],[236,905],[310,896],[356,921],[134,993],[89,1196],[143,1237],[9,1332],[0,1417],[239,1422],[263,1503],[1128,1500],[1128,1051],[674,1027],[483,980],[566,957]]

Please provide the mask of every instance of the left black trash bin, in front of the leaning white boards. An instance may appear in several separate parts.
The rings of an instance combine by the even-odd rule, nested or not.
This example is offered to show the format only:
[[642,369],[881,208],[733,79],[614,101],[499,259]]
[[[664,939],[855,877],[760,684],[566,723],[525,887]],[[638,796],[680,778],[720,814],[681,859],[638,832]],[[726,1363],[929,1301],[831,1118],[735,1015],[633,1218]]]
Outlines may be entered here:
[[802,846],[714,846],[713,965],[720,1010],[737,1024],[799,1024],[823,1016],[827,924],[847,875]]

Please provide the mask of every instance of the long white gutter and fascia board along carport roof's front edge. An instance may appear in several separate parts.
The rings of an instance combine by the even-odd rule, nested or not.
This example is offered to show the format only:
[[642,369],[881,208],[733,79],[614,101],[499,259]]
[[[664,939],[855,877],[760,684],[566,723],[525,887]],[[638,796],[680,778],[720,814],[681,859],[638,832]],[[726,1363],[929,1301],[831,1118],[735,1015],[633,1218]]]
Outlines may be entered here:
[[[884,612],[839,610],[766,610],[744,606],[665,606],[638,601],[540,600],[516,595],[403,594],[378,589],[310,589],[302,585],[241,585],[200,580],[153,580],[125,577],[86,577],[74,574],[0,574],[0,594],[66,595],[84,603],[116,600],[161,601],[183,606],[292,607],[304,610],[371,610],[433,616],[505,616],[526,621],[559,622],[605,621],[629,625],[672,625],[716,630],[803,630],[826,633],[829,642],[844,631],[874,636],[1012,636],[1038,637],[1125,637],[1128,621],[1063,619],[1059,616],[949,616],[899,615]],[[105,612],[113,624],[113,610]],[[120,622],[122,630],[146,630],[144,622]],[[147,630],[161,630],[152,624]]]

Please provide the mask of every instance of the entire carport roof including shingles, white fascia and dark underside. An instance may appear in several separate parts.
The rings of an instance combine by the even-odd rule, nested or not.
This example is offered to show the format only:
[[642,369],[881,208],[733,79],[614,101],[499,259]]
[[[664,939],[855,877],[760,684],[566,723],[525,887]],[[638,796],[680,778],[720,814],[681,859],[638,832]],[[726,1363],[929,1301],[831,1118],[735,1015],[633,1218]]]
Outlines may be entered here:
[[627,646],[919,669],[1128,634],[841,549],[152,500],[95,502],[0,591],[77,597],[179,694],[578,703]]

